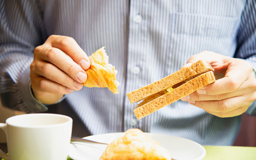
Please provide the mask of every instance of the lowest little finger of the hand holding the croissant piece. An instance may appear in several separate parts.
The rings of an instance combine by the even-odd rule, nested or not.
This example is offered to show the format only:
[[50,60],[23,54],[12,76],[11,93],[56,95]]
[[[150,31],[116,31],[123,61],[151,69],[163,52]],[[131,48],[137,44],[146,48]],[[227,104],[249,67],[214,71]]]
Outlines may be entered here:
[[48,80],[41,76],[35,76],[31,78],[31,85],[33,84],[33,90],[39,90],[40,92],[54,93],[54,94],[69,94],[73,92],[68,87],[61,84]]

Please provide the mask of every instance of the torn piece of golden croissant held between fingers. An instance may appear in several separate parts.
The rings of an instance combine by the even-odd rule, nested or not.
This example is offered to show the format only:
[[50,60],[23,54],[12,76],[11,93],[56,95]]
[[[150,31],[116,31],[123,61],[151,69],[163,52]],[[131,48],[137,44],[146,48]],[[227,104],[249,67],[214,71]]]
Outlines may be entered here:
[[108,87],[114,94],[117,94],[119,93],[117,89],[119,83],[116,80],[117,70],[108,64],[108,55],[104,48],[96,50],[89,56],[91,66],[86,70],[88,78],[83,85],[86,87]]

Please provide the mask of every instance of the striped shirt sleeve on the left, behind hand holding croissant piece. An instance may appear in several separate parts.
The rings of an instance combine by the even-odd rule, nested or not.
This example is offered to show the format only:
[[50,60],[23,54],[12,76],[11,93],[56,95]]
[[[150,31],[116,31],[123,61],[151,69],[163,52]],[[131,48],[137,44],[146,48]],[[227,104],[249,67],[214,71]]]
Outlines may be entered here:
[[47,107],[30,91],[34,48],[42,44],[43,25],[37,1],[0,1],[0,98],[3,106],[26,113]]

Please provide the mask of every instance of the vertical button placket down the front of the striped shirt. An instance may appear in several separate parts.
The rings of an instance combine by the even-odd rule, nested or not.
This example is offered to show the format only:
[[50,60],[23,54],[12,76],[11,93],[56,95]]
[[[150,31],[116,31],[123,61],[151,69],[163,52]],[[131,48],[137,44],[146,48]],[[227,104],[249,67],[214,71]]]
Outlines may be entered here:
[[[146,9],[141,10],[141,8],[148,8],[147,6],[148,4],[146,1],[142,3],[138,3],[136,0],[130,1],[127,63],[128,72],[126,81],[127,92],[140,87],[140,83],[142,81],[142,76],[140,76],[140,74],[144,74],[142,73],[142,70],[144,70],[142,66],[144,66],[143,64],[146,59],[146,53],[143,52],[144,49],[142,48],[148,44],[147,27],[145,26],[146,24],[144,24],[147,22],[144,20],[144,17],[147,15],[147,11]],[[124,130],[137,127],[138,124],[140,124],[140,121],[134,117],[134,104],[130,104],[126,97],[124,105]]]

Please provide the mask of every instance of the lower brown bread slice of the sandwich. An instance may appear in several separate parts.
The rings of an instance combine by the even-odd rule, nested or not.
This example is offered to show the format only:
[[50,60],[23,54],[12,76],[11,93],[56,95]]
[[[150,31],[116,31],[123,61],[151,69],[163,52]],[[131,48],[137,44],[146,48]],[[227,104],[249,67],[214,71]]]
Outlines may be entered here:
[[212,71],[201,74],[200,76],[175,88],[172,92],[166,93],[142,106],[139,106],[138,108],[135,108],[134,114],[139,120],[212,82],[215,82],[215,76]]

